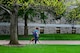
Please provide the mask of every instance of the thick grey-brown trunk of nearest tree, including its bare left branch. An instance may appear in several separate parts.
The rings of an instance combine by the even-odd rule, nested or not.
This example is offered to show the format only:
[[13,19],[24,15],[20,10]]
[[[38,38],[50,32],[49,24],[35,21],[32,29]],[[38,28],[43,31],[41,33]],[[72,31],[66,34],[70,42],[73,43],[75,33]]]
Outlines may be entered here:
[[[10,11],[6,8],[5,5],[0,5],[0,8],[5,10],[10,14],[10,42],[9,44],[18,45],[18,5],[16,5],[16,1],[14,0],[13,11]],[[4,7],[5,6],[5,7]]]

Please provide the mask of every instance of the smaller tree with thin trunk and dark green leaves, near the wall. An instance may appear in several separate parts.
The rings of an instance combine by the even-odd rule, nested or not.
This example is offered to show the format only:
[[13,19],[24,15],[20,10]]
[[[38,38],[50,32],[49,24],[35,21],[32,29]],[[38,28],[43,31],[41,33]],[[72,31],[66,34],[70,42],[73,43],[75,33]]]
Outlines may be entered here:
[[[43,21],[45,23],[45,20],[44,19],[45,19],[46,16],[44,15],[44,12],[41,13],[40,11],[37,11],[36,9],[32,9],[32,7],[29,7],[29,8],[27,8],[25,10],[24,15],[23,15],[24,20],[25,20],[25,26],[24,26],[24,36],[25,37],[27,37],[27,35],[28,35],[27,20],[34,21],[33,20],[34,19],[33,17],[35,17],[38,14],[41,16],[40,19],[43,19]],[[30,15],[30,17],[29,17],[29,15]]]

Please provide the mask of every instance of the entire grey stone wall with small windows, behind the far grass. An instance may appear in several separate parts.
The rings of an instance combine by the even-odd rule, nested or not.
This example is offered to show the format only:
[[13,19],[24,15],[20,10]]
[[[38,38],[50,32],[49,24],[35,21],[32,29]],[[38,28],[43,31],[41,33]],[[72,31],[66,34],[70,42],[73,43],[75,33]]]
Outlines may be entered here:
[[[35,29],[35,26],[29,26],[28,27],[28,33],[32,34],[32,31]],[[53,34],[57,33],[56,27],[39,27],[39,29],[43,30],[43,34]],[[61,27],[60,33],[72,33],[72,27]],[[80,28],[76,28],[76,33],[80,33]],[[10,34],[10,27],[9,26],[0,26],[0,34],[6,35]],[[19,26],[18,27],[18,34],[23,35],[24,34],[24,27]]]

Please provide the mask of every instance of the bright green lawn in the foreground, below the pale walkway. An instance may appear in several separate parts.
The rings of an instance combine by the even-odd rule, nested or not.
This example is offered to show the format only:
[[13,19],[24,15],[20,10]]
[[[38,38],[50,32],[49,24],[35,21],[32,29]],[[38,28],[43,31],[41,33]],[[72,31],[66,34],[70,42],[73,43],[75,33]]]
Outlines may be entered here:
[[0,46],[0,53],[80,53],[80,45]]

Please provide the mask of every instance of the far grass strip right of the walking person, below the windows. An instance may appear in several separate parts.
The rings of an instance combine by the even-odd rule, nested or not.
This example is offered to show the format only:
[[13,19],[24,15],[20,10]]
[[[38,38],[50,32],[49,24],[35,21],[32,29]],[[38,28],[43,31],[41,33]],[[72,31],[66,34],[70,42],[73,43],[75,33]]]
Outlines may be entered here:
[[80,34],[45,34],[41,40],[80,40]]

